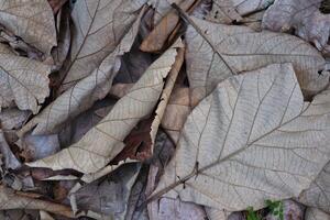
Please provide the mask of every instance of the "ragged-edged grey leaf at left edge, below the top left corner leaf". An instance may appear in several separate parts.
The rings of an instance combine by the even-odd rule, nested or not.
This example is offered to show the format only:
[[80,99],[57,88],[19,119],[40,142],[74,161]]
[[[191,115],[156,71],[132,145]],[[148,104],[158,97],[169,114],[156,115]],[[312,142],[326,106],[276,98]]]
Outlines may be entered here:
[[50,94],[50,73],[48,66],[16,56],[0,44],[0,110],[14,101],[19,109],[37,113]]

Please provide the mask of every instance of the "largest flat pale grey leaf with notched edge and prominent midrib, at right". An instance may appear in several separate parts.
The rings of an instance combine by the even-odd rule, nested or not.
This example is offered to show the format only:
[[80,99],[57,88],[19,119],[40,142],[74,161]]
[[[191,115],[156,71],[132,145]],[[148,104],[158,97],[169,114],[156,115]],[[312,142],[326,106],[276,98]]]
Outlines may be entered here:
[[235,211],[297,197],[329,160],[329,96],[304,102],[290,64],[224,80],[188,117],[152,198]]

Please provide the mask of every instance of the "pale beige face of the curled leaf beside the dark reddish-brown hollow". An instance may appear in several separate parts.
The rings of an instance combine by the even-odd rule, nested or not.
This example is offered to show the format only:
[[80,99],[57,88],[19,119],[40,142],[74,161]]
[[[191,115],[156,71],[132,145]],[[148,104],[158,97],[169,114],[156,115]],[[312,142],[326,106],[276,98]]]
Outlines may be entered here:
[[81,173],[95,173],[105,167],[121,152],[124,138],[154,109],[176,55],[176,48],[167,50],[147,68],[130,92],[116,103],[110,113],[80,141],[29,165],[52,169],[73,168]]

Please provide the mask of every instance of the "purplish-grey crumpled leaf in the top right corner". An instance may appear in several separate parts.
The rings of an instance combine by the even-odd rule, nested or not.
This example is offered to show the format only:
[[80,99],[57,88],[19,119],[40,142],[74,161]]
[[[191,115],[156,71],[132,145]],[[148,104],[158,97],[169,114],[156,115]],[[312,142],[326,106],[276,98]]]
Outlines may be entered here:
[[330,52],[330,15],[320,12],[321,1],[276,0],[267,9],[262,25],[264,29],[283,32],[294,29],[298,36],[314,43],[319,51]]

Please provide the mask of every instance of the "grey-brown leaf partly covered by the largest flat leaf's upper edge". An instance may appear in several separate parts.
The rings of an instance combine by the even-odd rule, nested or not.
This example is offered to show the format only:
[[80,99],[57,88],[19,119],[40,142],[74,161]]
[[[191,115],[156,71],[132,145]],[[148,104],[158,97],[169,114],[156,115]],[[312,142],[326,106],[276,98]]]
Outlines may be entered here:
[[191,22],[200,32],[193,26],[187,30],[186,62],[191,92],[198,100],[229,76],[273,63],[293,63],[305,95],[314,95],[328,84],[329,73],[318,74],[324,69],[323,57],[295,36],[258,33],[245,26],[215,24],[195,18]]

